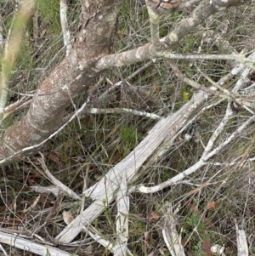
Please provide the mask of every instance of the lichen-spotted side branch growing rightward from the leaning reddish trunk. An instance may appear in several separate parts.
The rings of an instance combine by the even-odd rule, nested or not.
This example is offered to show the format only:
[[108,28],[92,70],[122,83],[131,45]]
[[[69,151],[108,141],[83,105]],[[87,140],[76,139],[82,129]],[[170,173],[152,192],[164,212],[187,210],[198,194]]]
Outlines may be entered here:
[[[239,0],[237,2],[239,3],[241,1]],[[230,5],[229,1],[228,2],[220,1],[220,0],[202,1],[187,18],[185,18],[173,31],[171,31],[167,35],[167,37],[164,37],[161,39],[161,44],[166,49],[166,52],[161,51],[160,53],[157,53],[154,45],[151,43],[147,43],[144,46],[126,51],[124,53],[106,55],[96,62],[95,68],[96,70],[101,71],[114,66],[131,65],[133,63],[137,63],[143,60],[154,59],[162,56],[164,57],[174,56],[173,54],[171,54],[171,52],[169,52],[169,50],[173,47],[174,44],[178,43],[181,39],[187,36],[191,31],[194,31],[195,27],[201,25],[201,23],[203,23],[204,20],[207,19],[207,17],[217,13],[220,10],[223,10],[229,5]],[[184,54],[179,54],[179,55],[184,56]],[[178,56],[178,57],[181,57],[181,56]],[[207,55],[207,56],[208,56],[207,58],[209,58],[210,55]],[[215,55],[212,55],[212,56],[213,58],[215,58]],[[231,59],[231,57],[229,56],[234,56],[234,55],[224,55],[224,58],[227,58],[229,60]],[[199,57],[199,55],[197,55],[196,57],[201,58]],[[234,56],[233,58],[236,60],[236,58],[239,58],[239,57]],[[245,58],[243,58],[243,55],[241,55],[240,58],[241,58],[241,61],[250,62],[250,60],[246,60]]]

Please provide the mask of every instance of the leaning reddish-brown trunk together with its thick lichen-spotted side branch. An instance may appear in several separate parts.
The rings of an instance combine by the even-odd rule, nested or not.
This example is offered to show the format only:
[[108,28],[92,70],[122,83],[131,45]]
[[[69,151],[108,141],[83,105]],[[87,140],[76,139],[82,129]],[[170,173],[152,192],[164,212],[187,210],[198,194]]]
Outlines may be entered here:
[[[102,70],[129,65],[159,56],[167,57],[174,43],[193,31],[208,16],[242,3],[241,0],[202,1],[161,43],[166,51],[157,52],[147,43],[121,54],[110,54],[116,17],[122,1],[84,0],[76,43],[70,54],[42,82],[31,107],[20,122],[11,127],[0,143],[0,159],[11,156],[27,146],[37,145],[56,131],[71,98],[88,90]],[[98,61],[97,61],[98,60]]]

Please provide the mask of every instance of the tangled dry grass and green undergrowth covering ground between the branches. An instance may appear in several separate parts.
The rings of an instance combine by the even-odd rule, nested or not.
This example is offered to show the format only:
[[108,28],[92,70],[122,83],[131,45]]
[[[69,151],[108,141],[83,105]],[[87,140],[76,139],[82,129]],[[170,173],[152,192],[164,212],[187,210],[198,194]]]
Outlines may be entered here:
[[[1,3],[2,14],[7,16],[13,14],[14,7],[10,2]],[[77,24],[80,3],[70,3],[70,24]],[[58,65],[65,56],[63,48],[60,25],[59,25],[59,1],[37,3],[38,27],[34,31],[31,26],[24,36],[24,44],[20,52],[19,61],[13,72],[11,81],[10,102],[20,99],[24,94],[37,88],[43,78]],[[182,42],[174,46],[176,53],[195,54],[199,48],[201,53],[218,54],[224,53],[213,42],[201,45],[202,35],[205,31],[218,32],[218,26],[228,20],[228,31],[224,38],[232,43],[237,51],[240,44],[247,35],[252,35],[252,10],[250,9],[228,9],[224,13],[214,15],[205,24],[198,27],[191,35],[185,37]],[[188,12],[176,12],[173,17],[161,19],[161,37],[167,35],[168,31],[178,25]],[[242,19],[241,17],[243,17]],[[5,36],[8,31],[9,18],[3,20]],[[126,1],[122,6],[119,17],[117,32],[116,52],[131,48],[137,48],[144,43],[150,42],[149,17],[143,1]],[[72,25],[73,26],[73,25]],[[72,30],[72,37],[75,31]],[[35,42],[37,40],[37,42]],[[105,92],[120,80],[124,81],[134,71],[142,68],[145,63],[129,65],[112,70],[107,80],[102,83],[96,95]],[[226,61],[203,60],[192,63],[187,60],[178,60],[179,69],[196,82],[209,86],[209,82],[201,76],[195,65],[217,82],[229,72],[229,63]],[[251,77],[252,82],[254,77]],[[235,81],[233,81],[234,83]],[[233,87],[230,82],[229,88]],[[108,94],[108,98],[99,102],[100,108],[131,108],[138,111],[153,112],[165,117],[175,111],[191,99],[195,89],[178,81],[173,74],[167,60],[156,60],[148,68],[139,72],[122,86],[115,88]],[[80,95],[75,104],[82,105],[86,94]],[[212,98],[205,105],[216,102]],[[195,143],[185,141],[181,136],[173,142],[167,153],[155,164],[145,164],[140,172],[139,179],[135,184],[156,185],[174,175],[183,172],[197,162],[203,152],[203,145],[207,144],[212,132],[217,128],[226,110],[226,101],[214,105],[197,117],[200,122],[201,142]],[[97,106],[94,106],[97,107]],[[67,112],[74,111],[71,106]],[[26,113],[26,110],[15,114],[13,120],[18,120]],[[233,133],[242,122],[246,120],[246,111],[236,113],[224,133],[216,141],[216,145],[224,141],[226,135]],[[10,125],[12,120],[9,120]],[[43,145],[42,153],[45,162],[56,179],[75,191],[78,195],[84,189],[84,180],[87,188],[94,185],[108,170],[122,161],[139,142],[144,139],[156,121],[147,117],[133,116],[133,114],[103,113],[99,115],[90,114],[85,111],[84,115],[72,122],[62,130],[54,139]],[[201,168],[195,174],[186,177],[189,183],[173,185],[161,192],[152,195],[133,193],[131,198],[129,218],[128,247],[137,255],[169,255],[162,239],[161,229],[163,223],[164,203],[172,202],[173,208],[179,208],[176,215],[178,232],[182,234],[182,244],[187,255],[203,255],[202,250],[206,243],[211,245],[217,243],[225,247],[226,255],[236,254],[235,247],[235,224],[234,219],[246,230],[250,240],[250,253],[254,252],[255,242],[252,235],[254,230],[254,176],[251,170],[253,162],[246,165],[235,164],[249,148],[250,156],[254,156],[253,142],[254,128],[251,126],[238,139],[233,140],[224,151],[214,157],[210,164]],[[217,163],[221,162],[222,165]],[[233,165],[224,165],[224,162],[234,162]],[[39,171],[41,170],[41,172]],[[224,179],[228,181],[224,184]],[[48,186],[51,183],[45,178],[42,168],[37,162],[37,156],[31,156],[27,160],[14,163],[3,168],[1,178],[1,215],[2,227],[14,230],[29,230],[36,232],[44,240],[50,241],[64,229],[65,223],[61,213],[69,211],[77,216],[81,211],[81,204],[74,202],[63,195],[59,199],[59,205],[55,206],[56,197],[48,192],[38,194],[31,190],[31,186]],[[29,213],[26,209],[38,199],[37,205]],[[85,202],[85,208],[90,201]],[[51,211],[55,208],[54,212]],[[93,226],[105,239],[115,242],[116,240],[116,202],[108,204],[105,202],[105,212],[94,220]],[[43,226],[43,223],[46,225]],[[42,228],[43,227],[43,228]],[[82,255],[110,255],[110,251],[99,247],[82,231],[77,236],[77,247],[72,252]],[[88,244],[91,244],[88,246]],[[61,247],[61,246],[60,246]],[[15,248],[8,248],[10,254],[19,253]],[[91,249],[92,252],[88,252]],[[86,251],[88,250],[88,251]],[[87,255],[88,255],[87,254]]]

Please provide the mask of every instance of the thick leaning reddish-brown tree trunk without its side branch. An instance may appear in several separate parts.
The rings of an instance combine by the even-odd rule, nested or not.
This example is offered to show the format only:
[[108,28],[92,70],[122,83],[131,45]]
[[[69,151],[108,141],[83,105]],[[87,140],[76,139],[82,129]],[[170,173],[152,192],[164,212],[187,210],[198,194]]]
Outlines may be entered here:
[[66,106],[86,92],[98,79],[94,62],[110,54],[116,31],[120,0],[84,0],[76,41],[70,53],[48,77],[33,97],[26,117],[8,129],[0,143],[0,159],[53,134],[63,120]]

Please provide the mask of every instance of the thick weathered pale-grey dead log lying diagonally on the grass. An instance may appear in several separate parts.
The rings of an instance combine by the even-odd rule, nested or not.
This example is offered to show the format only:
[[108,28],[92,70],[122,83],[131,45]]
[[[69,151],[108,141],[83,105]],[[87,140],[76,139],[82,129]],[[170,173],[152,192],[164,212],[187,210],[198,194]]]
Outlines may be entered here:
[[[229,74],[222,78],[222,82],[228,81],[231,77],[237,75],[243,69],[242,65],[235,67]],[[114,192],[118,189],[120,180],[125,175],[127,181],[131,182],[138,175],[139,168],[143,163],[158,149],[166,138],[172,138],[182,127],[183,123],[190,117],[194,109],[205,100],[208,94],[200,91],[193,95],[193,98],[186,103],[180,110],[174,114],[162,118],[145,139],[125,158],[122,162],[116,164],[109,172],[93,185],[84,194],[94,200],[81,216],[61,231],[56,240],[59,242],[71,242],[83,229],[90,225],[94,219],[104,212],[103,202],[110,203],[113,200]]]

